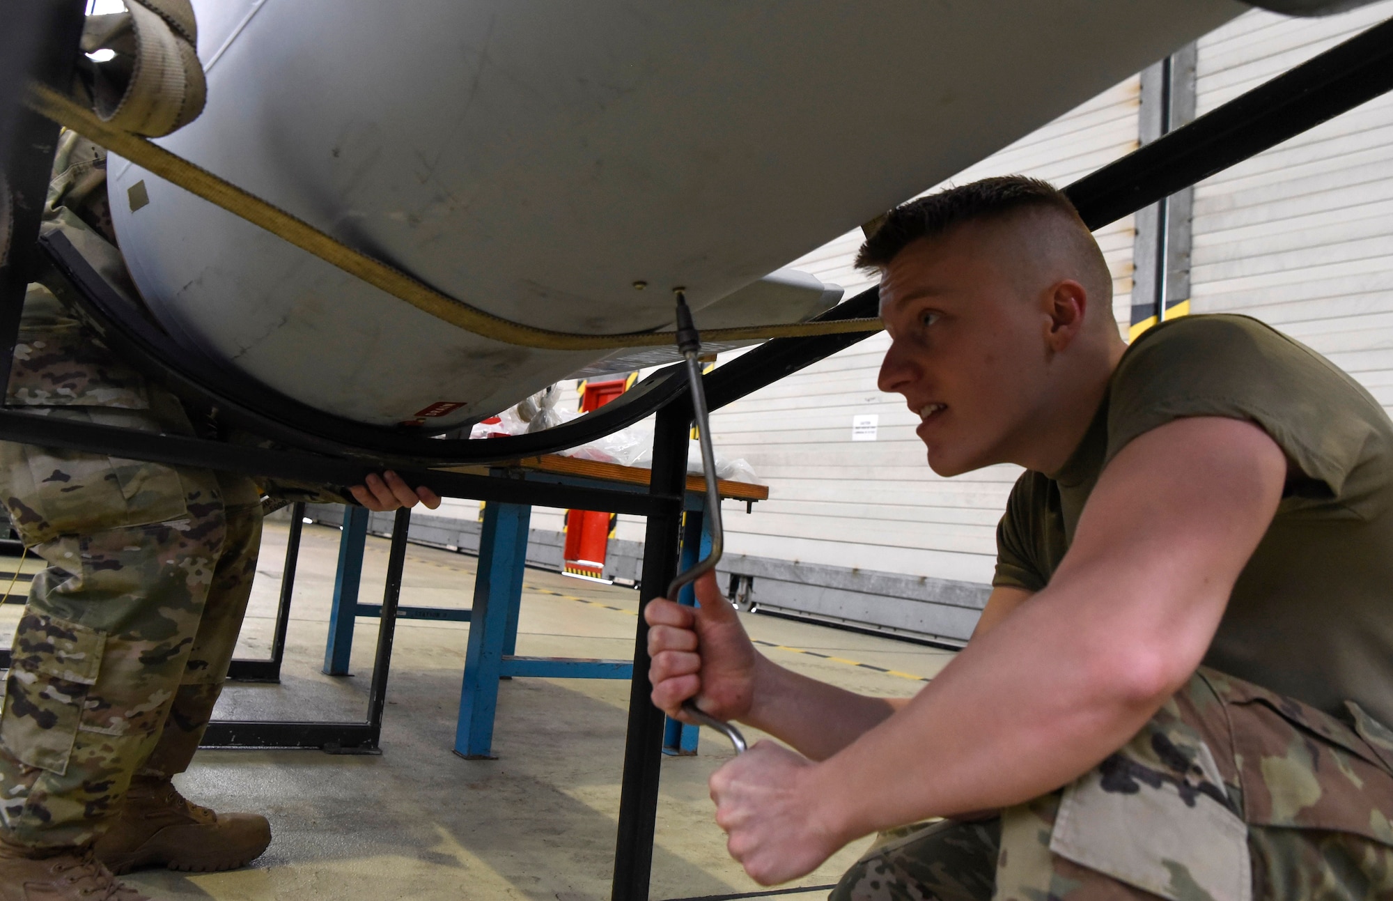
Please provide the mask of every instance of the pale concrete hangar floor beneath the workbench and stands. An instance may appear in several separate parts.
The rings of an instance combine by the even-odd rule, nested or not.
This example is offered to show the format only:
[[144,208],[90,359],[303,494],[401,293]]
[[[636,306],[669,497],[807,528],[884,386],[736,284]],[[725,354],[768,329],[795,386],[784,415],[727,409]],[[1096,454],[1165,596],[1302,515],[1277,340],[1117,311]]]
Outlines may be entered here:
[[[286,530],[283,522],[267,523],[240,657],[269,656]],[[364,717],[376,621],[358,619],[354,676],[319,672],[337,543],[337,529],[305,527],[283,682],[231,685],[220,717]],[[369,537],[364,603],[378,601],[386,558],[387,541]],[[468,607],[474,570],[472,556],[412,545],[401,603]],[[630,657],[635,591],[534,569],[524,583],[520,654]],[[17,605],[0,608],[6,644],[18,611]],[[777,662],[865,693],[912,695],[921,678],[935,675],[951,657],[932,647],[758,614],[744,619]],[[450,749],[467,636],[467,623],[398,622],[382,756],[201,752],[180,777],[185,795],[221,810],[265,813],[274,842],[240,872],[146,872],[128,880],[156,898],[227,901],[607,898],[628,683],[507,681],[493,739],[497,760],[462,760]],[[703,732],[699,756],[664,759],[653,898],[761,891],[726,854],[724,834],[712,821],[706,778],[730,756],[724,739]],[[843,849],[795,886],[836,881],[864,844]]]

